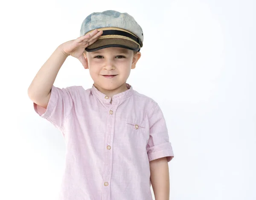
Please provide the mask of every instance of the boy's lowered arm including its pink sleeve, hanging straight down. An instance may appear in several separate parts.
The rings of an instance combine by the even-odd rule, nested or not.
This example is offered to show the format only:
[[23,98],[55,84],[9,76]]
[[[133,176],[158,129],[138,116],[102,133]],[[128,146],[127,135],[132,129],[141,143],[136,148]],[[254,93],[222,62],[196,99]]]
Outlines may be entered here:
[[149,139],[147,144],[150,180],[156,200],[169,200],[169,166],[174,158],[172,144],[163,112],[154,104],[149,114]]

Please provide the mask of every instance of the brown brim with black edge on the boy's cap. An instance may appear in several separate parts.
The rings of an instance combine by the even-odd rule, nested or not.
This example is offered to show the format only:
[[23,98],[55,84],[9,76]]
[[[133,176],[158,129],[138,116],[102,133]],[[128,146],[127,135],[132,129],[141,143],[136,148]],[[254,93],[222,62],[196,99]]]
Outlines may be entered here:
[[85,51],[92,52],[97,51],[103,48],[108,47],[121,47],[121,48],[127,48],[133,51],[139,51],[140,45],[138,45],[136,42],[133,42],[129,39],[123,39],[123,38],[102,38],[96,40],[93,44],[89,45],[87,48],[85,48]]

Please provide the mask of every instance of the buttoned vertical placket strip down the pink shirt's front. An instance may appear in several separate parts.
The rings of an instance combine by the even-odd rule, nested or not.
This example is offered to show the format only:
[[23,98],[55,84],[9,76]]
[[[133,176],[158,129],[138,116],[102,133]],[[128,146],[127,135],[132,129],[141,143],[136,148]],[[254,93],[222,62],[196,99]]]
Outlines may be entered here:
[[108,107],[108,119],[105,135],[105,158],[102,183],[102,200],[110,200],[111,175],[113,165],[113,136],[115,127],[115,115],[119,101],[114,101]]

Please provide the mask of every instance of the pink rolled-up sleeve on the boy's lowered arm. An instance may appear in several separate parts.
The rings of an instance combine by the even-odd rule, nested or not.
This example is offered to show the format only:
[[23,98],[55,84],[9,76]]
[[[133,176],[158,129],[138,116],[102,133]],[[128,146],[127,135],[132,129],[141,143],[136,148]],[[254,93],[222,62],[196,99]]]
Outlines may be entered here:
[[174,158],[166,121],[158,104],[154,106],[153,112],[149,116],[147,153],[149,161],[167,157],[167,161],[169,162]]

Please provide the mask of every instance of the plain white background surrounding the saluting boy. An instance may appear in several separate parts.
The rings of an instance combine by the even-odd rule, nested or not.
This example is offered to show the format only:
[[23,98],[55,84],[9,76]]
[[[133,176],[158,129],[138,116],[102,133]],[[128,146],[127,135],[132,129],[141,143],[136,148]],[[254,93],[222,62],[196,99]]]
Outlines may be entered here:
[[[57,200],[64,139],[35,113],[27,89],[55,48],[79,37],[85,17],[105,10],[143,28],[128,83],[165,115],[170,199],[255,200],[254,0],[1,1],[0,199]],[[92,84],[70,56],[54,85]]]

